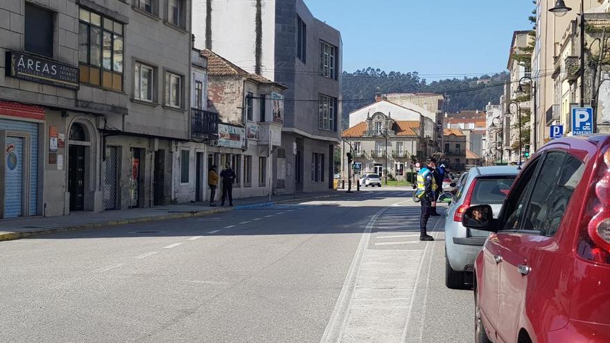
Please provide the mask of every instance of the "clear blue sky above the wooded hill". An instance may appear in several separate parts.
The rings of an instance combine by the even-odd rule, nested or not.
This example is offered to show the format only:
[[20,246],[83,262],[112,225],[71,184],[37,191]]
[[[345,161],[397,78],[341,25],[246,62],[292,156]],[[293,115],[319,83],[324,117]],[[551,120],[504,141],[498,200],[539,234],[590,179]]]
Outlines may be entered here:
[[428,80],[505,70],[512,33],[532,28],[534,9],[532,0],[304,1],[341,31],[345,71],[418,71]]

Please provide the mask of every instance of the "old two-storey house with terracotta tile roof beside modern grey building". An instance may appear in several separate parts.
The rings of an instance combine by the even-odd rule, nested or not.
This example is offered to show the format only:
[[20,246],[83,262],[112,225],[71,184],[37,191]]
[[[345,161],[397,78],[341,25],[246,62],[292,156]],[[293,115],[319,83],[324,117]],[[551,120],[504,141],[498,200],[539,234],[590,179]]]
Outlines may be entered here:
[[286,155],[280,154],[286,87],[248,73],[212,51],[202,55],[208,61],[209,110],[220,118],[207,164],[220,169],[231,164],[237,175],[234,197],[284,191]]

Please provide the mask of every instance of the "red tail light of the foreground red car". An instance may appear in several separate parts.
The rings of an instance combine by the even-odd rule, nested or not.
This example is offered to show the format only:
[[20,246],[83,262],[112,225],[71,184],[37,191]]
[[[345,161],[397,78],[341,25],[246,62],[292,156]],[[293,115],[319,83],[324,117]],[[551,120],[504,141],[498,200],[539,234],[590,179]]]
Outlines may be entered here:
[[589,191],[589,206],[580,234],[580,256],[595,263],[610,264],[610,149],[600,163],[598,177]]

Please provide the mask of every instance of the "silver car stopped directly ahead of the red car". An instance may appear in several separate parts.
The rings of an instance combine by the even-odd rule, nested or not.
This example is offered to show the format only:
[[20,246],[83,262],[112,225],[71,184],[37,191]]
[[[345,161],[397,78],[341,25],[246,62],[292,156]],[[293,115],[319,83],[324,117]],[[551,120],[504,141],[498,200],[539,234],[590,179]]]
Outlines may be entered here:
[[440,202],[451,203],[445,220],[445,283],[448,288],[461,289],[471,281],[474,261],[488,232],[467,229],[462,215],[469,207],[489,204],[497,218],[519,170],[515,166],[476,167],[460,177],[455,195],[444,193]]

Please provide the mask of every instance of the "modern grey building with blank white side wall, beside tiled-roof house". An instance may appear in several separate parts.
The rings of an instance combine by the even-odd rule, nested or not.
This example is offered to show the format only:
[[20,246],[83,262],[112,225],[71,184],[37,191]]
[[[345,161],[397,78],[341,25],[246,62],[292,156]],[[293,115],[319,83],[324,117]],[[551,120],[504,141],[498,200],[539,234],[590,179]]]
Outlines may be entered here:
[[277,151],[285,157],[286,179],[277,192],[333,188],[341,127],[339,31],[314,18],[302,0],[195,0],[193,14],[196,47],[288,87]]

